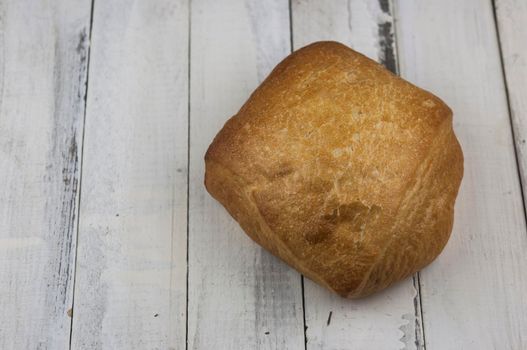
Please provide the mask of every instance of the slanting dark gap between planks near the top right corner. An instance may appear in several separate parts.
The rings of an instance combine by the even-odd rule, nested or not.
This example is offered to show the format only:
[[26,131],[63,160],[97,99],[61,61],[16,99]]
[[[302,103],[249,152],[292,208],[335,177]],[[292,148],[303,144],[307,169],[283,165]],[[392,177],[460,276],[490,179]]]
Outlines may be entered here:
[[503,77],[503,88],[505,90],[505,98],[507,100],[507,113],[509,115],[509,125],[511,128],[511,136],[512,136],[512,145],[514,149],[514,159],[516,160],[516,172],[518,174],[518,180],[520,182],[520,194],[522,199],[522,207],[523,207],[523,214],[524,214],[524,220],[527,224],[527,203],[525,203],[525,195],[524,190],[527,184],[523,183],[522,175],[520,171],[520,160],[518,155],[518,149],[516,147],[516,134],[514,132],[514,122],[512,120],[512,108],[511,108],[511,101],[509,97],[509,85],[507,83],[507,75],[505,73],[505,61],[503,59],[503,49],[501,47],[501,37],[500,37],[500,28],[498,25],[498,15],[497,15],[497,9],[496,9],[496,0],[490,0],[491,6],[492,6],[492,16],[494,18],[494,28],[496,32],[496,40],[498,42],[498,51],[499,51],[499,58],[500,58],[500,67],[501,67],[501,75]]

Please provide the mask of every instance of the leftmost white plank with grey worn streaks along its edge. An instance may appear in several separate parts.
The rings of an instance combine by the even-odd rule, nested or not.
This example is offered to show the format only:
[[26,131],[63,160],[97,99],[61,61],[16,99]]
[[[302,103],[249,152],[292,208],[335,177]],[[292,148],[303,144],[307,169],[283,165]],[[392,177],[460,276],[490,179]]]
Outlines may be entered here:
[[0,2],[0,348],[69,347],[90,1]]

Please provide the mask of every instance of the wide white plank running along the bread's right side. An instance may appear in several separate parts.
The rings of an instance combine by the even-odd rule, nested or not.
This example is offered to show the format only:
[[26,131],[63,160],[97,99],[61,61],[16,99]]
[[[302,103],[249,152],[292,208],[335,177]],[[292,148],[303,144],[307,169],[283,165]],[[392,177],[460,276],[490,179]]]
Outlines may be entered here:
[[454,232],[421,272],[428,349],[527,348],[527,234],[490,1],[398,1],[402,75],[454,111]]

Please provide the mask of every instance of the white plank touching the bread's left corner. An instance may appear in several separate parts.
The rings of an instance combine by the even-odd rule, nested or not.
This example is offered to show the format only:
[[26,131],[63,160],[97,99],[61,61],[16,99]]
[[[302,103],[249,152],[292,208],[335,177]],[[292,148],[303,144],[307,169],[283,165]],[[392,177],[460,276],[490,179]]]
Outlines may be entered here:
[[300,275],[203,186],[205,151],[290,51],[286,0],[195,0],[191,14],[189,349],[303,349]]

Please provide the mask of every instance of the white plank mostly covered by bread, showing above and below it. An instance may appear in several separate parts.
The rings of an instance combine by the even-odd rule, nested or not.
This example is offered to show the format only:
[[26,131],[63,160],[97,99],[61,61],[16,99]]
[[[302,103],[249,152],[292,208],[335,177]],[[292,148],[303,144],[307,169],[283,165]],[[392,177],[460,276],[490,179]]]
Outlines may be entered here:
[[[388,1],[293,1],[295,49],[336,40],[396,70]],[[417,282],[416,282],[417,283]],[[362,300],[305,283],[308,349],[418,349],[423,346],[417,284],[409,278]]]

